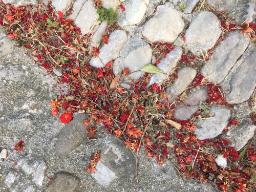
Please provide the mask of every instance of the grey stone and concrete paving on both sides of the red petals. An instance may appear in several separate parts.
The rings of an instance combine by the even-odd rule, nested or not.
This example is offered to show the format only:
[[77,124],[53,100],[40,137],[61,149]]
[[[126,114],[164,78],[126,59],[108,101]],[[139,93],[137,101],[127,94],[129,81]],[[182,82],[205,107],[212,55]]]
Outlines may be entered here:
[[[36,3],[4,1],[15,6],[29,2]],[[222,33],[220,20],[214,13],[203,10],[200,13],[193,12],[198,1],[187,1],[183,12],[179,8],[185,2],[182,0],[102,2],[103,7],[113,9],[117,9],[121,2],[126,9],[123,13],[118,10],[118,25],[121,29],[112,32],[109,44],[100,48],[100,59],[92,58],[90,64],[103,67],[105,63],[116,59],[113,66],[115,75],[123,67],[130,71],[140,70],[154,59],[150,45],[155,41],[179,44],[159,64],[165,73],[172,73],[184,50],[201,55],[215,46]],[[217,10],[230,11],[238,23],[245,19],[255,23],[254,0],[207,2]],[[63,13],[73,6],[70,17],[82,33],[94,30],[92,46],[101,40],[106,23],[97,22],[98,14],[91,0],[53,0],[52,5]],[[189,23],[186,28],[184,21]],[[186,37],[185,41],[180,41],[182,34]],[[50,113],[49,101],[59,90],[67,88],[59,87],[55,83],[58,77],[37,67],[26,52],[3,32],[0,33],[0,150],[7,149],[7,158],[0,161],[0,191],[137,191],[135,154],[100,126],[96,140],[89,140],[81,124],[84,118],[82,114],[76,114],[70,124],[59,123],[59,117]],[[210,112],[214,117],[198,119],[195,133],[199,139],[217,137],[232,118],[238,118],[241,123],[241,126],[232,127],[228,133],[237,150],[253,137],[256,126],[249,116],[255,113],[256,103],[249,106],[248,100],[255,98],[256,94],[255,60],[255,44],[248,35],[231,32],[200,71],[191,67],[179,69],[179,78],[172,87],[166,89],[170,100],[182,94],[196,74],[201,72],[209,82],[220,84],[226,100],[234,104],[231,111],[225,106],[212,106]],[[132,75],[130,78],[138,79],[143,73]],[[164,80],[165,75],[153,75],[150,83]],[[129,78],[126,83],[129,83]],[[129,89],[126,83],[122,86]],[[177,108],[175,117],[189,119],[199,110],[199,104],[205,101],[207,94],[203,88],[189,93],[184,105]],[[14,144],[19,140],[25,142],[23,153],[13,151]],[[102,153],[97,172],[87,173],[85,165],[97,150]],[[139,157],[139,191],[217,190],[196,180],[181,178],[170,162],[160,167],[143,152],[140,152]],[[53,178],[51,183],[50,178]]]

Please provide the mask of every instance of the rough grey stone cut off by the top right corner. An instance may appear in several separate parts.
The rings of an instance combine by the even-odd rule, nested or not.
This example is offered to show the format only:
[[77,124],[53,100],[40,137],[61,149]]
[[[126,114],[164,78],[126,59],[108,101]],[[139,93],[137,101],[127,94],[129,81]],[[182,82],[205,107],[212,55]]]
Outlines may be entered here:
[[[207,2],[218,11],[229,11],[229,15],[235,18],[237,23],[243,23],[246,19],[252,22],[256,11],[254,0],[208,0]],[[252,10],[248,9],[250,6]]]

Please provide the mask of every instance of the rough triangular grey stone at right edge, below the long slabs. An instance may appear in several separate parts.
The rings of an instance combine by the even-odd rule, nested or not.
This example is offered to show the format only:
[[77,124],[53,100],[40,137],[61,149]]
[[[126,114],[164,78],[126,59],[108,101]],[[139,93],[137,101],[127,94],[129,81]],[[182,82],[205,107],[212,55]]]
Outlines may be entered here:
[[236,150],[240,151],[241,148],[243,148],[246,143],[254,136],[255,130],[255,125],[243,124],[242,126],[232,127],[231,130],[228,131],[227,136]]

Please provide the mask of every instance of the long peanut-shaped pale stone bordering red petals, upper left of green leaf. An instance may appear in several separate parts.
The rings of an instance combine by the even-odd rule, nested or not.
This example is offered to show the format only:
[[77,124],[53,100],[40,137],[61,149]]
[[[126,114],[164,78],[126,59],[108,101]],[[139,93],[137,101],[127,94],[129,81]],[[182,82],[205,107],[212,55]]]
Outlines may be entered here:
[[98,57],[92,57],[90,65],[97,68],[105,67],[105,64],[120,55],[120,50],[127,42],[127,35],[123,30],[115,30],[109,37],[109,43],[104,44],[99,50]]

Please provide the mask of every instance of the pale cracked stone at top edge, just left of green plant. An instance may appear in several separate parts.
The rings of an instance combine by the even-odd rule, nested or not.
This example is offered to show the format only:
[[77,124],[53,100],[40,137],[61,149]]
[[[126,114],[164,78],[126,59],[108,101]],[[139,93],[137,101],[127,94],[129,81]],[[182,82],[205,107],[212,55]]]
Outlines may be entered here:
[[98,19],[99,15],[94,3],[90,0],[78,0],[74,3],[74,11],[70,16],[82,34],[90,32],[91,27]]

